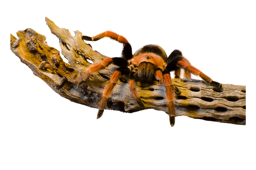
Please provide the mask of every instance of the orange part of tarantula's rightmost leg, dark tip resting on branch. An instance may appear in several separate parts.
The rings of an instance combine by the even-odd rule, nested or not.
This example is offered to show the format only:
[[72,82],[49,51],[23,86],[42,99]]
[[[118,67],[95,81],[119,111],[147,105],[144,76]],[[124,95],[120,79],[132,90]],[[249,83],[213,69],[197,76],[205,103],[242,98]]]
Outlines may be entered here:
[[206,83],[218,85],[221,88],[221,84],[217,81],[214,81],[212,78],[204,74],[200,69],[192,66],[191,64],[187,63],[186,61],[179,61],[177,63],[180,67],[185,70],[186,78],[193,78],[192,76],[200,76],[204,79]]

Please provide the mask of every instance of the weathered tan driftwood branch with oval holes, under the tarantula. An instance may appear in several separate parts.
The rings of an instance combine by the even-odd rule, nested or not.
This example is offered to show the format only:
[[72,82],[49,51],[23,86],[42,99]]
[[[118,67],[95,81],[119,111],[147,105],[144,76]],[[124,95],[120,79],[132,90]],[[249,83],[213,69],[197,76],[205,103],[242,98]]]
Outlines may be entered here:
[[[18,38],[11,34],[12,53],[63,98],[98,108],[97,102],[100,100],[104,83],[117,66],[110,64],[78,88],[77,84],[88,67],[92,63],[100,63],[107,56],[94,51],[85,43],[81,39],[80,31],[76,30],[72,35],[68,29],[58,27],[51,19],[45,17],[45,21],[51,33],[59,38],[61,54],[68,63],[63,61],[59,50],[46,43],[45,35],[31,28],[18,31]],[[123,79],[127,80],[127,77]],[[218,88],[200,79],[173,78],[172,82],[181,91],[175,100],[176,116],[246,125],[246,86],[222,84],[222,88]],[[164,87],[160,86],[158,81],[150,84],[138,81],[137,86],[145,108],[140,107],[132,98],[129,84],[118,81],[106,109],[130,113],[145,109],[167,112]]]

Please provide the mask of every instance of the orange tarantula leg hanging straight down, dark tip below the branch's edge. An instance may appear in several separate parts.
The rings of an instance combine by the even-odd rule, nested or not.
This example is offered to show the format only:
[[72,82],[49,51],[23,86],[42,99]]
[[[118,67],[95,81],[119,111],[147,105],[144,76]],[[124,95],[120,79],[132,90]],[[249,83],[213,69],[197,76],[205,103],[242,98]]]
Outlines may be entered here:
[[172,90],[172,80],[170,74],[162,74],[161,70],[156,70],[156,79],[159,80],[161,85],[165,86],[165,100],[168,102],[169,121],[171,127],[175,125],[175,104],[174,104],[174,93]]

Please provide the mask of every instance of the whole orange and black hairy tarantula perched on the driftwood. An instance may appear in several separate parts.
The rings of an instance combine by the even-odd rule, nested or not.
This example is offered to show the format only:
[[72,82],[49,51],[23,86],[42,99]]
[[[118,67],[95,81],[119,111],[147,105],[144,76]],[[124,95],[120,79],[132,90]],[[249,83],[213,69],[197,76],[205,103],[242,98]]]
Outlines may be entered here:
[[[144,104],[140,99],[135,83],[136,80],[152,81],[156,79],[159,80],[160,85],[165,86],[165,100],[168,102],[169,121],[172,127],[175,124],[174,92],[180,93],[180,91],[176,86],[172,85],[170,72],[174,74],[173,76],[175,78],[180,78],[181,72],[185,72],[186,78],[193,78],[193,76],[200,77],[207,83],[221,87],[219,82],[214,81],[201,70],[194,67],[180,49],[174,49],[171,53],[166,55],[165,50],[159,45],[147,44],[133,53],[131,43],[123,35],[112,30],[103,31],[92,37],[87,35],[82,36],[82,39],[85,41],[99,41],[103,38],[109,38],[112,41],[123,44],[123,46],[120,57],[110,57],[103,60],[100,64],[93,64],[83,75],[82,82],[85,82],[92,74],[108,67],[110,63],[119,66],[112,74],[110,83],[105,86],[103,90],[97,119],[103,115],[103,110],[107,106],[108,98],[111,97],[118,79],[124,74],[129,75],[129,85],[132,96],[142,107],[144,107]],[[78,86],[81,86],[81,83]]]

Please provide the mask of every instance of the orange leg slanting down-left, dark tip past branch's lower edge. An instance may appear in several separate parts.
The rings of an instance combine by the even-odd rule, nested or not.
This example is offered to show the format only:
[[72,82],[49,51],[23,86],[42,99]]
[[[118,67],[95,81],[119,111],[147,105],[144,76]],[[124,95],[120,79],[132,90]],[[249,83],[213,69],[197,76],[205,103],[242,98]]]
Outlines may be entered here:
[[100,99],[100,103],[99,103],[99,111],[97,113],[97,119],[99,119],[103,115],[103,110],[107,106],[108,98],[112,95],[113,89],[116,86],[116,83],[120,78],[120,76],[121,76],[121,72],[116,70],[111,76],[109,84],[104,87],[102,98]]

